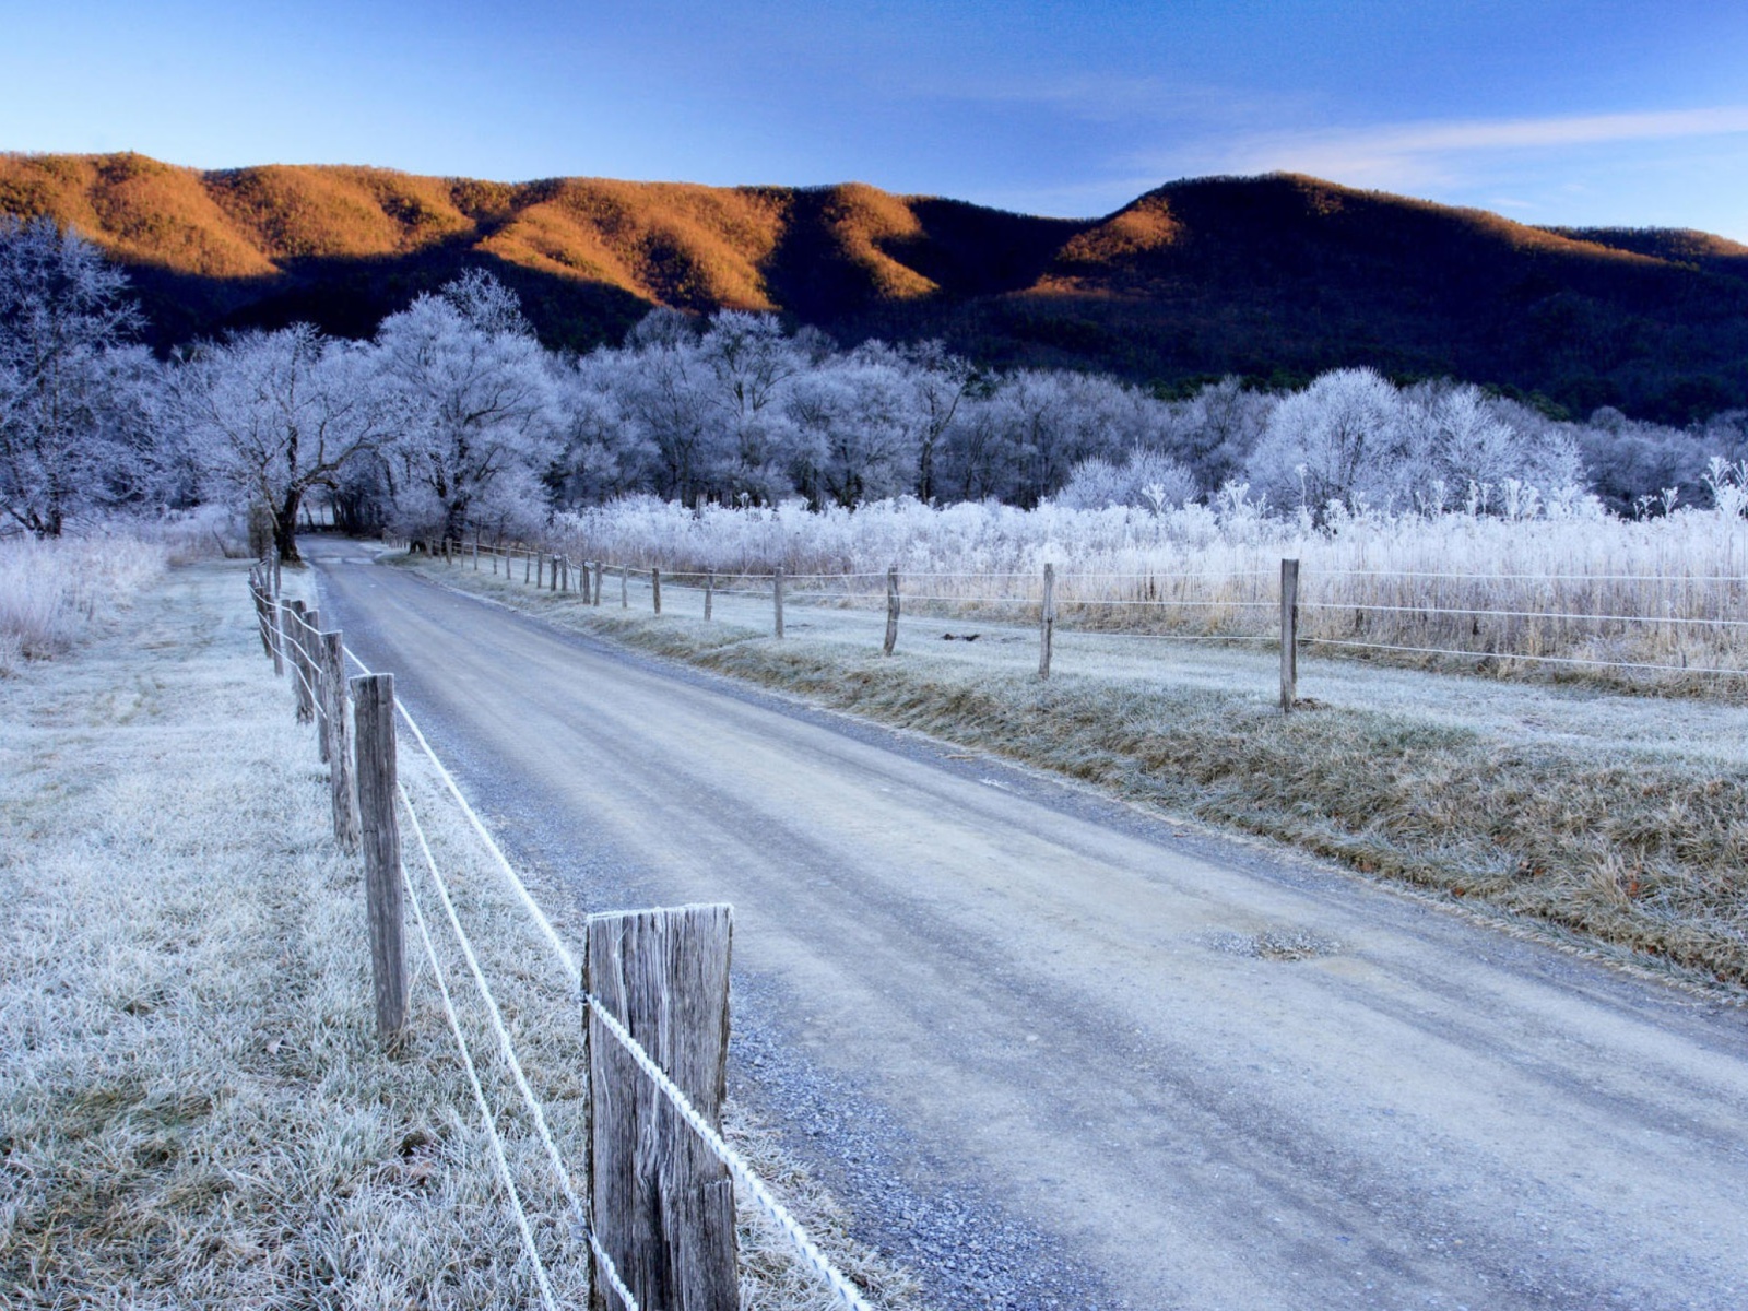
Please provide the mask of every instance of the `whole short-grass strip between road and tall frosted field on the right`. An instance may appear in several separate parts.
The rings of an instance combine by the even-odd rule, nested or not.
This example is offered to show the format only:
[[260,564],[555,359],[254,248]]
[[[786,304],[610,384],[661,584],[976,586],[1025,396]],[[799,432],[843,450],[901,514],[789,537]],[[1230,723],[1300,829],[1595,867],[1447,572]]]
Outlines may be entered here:
[[[1334,857],[1696,981],[1748,984],[1748,710],[1306,657],[1283,718],[1278,657],[1243,645],[883,615],[633,579],[628,608],[535,591],[482,561],[434,577],[556,622],[1042,766],[1220,829]],[[951,635],[951,640],[949,640]],[[967,640],[972,638],[972,640]]]

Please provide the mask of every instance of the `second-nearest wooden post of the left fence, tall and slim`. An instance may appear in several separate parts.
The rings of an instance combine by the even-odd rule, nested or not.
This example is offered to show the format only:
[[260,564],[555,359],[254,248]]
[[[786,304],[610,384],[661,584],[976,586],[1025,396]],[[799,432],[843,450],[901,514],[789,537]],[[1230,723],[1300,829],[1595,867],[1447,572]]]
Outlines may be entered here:
[[407,947],[400,895],[400,818],[395,813],[395,675],[351,680],[358,717],[358,827],[364,904],[371,930],[376,1031],[393,1038],[407,1023]]

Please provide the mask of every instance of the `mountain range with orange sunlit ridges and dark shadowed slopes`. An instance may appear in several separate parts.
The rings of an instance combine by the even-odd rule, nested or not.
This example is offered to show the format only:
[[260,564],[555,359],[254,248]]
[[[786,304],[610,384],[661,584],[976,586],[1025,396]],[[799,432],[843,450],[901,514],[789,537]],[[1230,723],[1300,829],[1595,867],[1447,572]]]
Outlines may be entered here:
[[860,184],[0,154],[0,213],[51,215],[126,264],[161,350],[295,320],[367,336],[484,266],[549,346],[575,350],[657,304],[738,308],[843,343],[940,337],[988,365],[1103,369],[1164,392],[1367,364],[1573,414],[1610,404],[1683,423],[1748,406],[1748,246],[1531,227],[1297,175],[1173,182],[1073,220]]

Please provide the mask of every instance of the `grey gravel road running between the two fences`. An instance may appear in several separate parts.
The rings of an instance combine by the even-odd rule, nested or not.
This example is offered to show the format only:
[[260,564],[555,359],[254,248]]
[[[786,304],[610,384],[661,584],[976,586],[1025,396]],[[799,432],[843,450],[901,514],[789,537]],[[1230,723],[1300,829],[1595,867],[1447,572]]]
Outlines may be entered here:
[[593,909],[736,905],[734,1079],[940,1306],[1748,1306],[1748,1021],[311,544]]

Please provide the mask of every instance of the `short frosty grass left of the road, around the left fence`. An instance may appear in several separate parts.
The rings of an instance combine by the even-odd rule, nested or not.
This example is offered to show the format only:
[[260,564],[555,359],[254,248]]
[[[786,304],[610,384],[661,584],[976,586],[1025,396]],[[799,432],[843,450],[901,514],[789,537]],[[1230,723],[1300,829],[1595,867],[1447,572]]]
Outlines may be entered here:
[[[531,965],[523,909],[430,771],[404,755],[402,780],[580,1145],[575,1000]],[[376,1042],[362,876],[239,566],[171,570],[0,683],[0,1304],[538,1304],[416,937],[409,1037]],[[556,1292],[580,1304],[568,1213],[442,937],[439,958]],[[902,1287],[755,1127],[732,1133],[841,1264]],[[829,1304],[757,1218],[743,1250],[748,1308]]]

